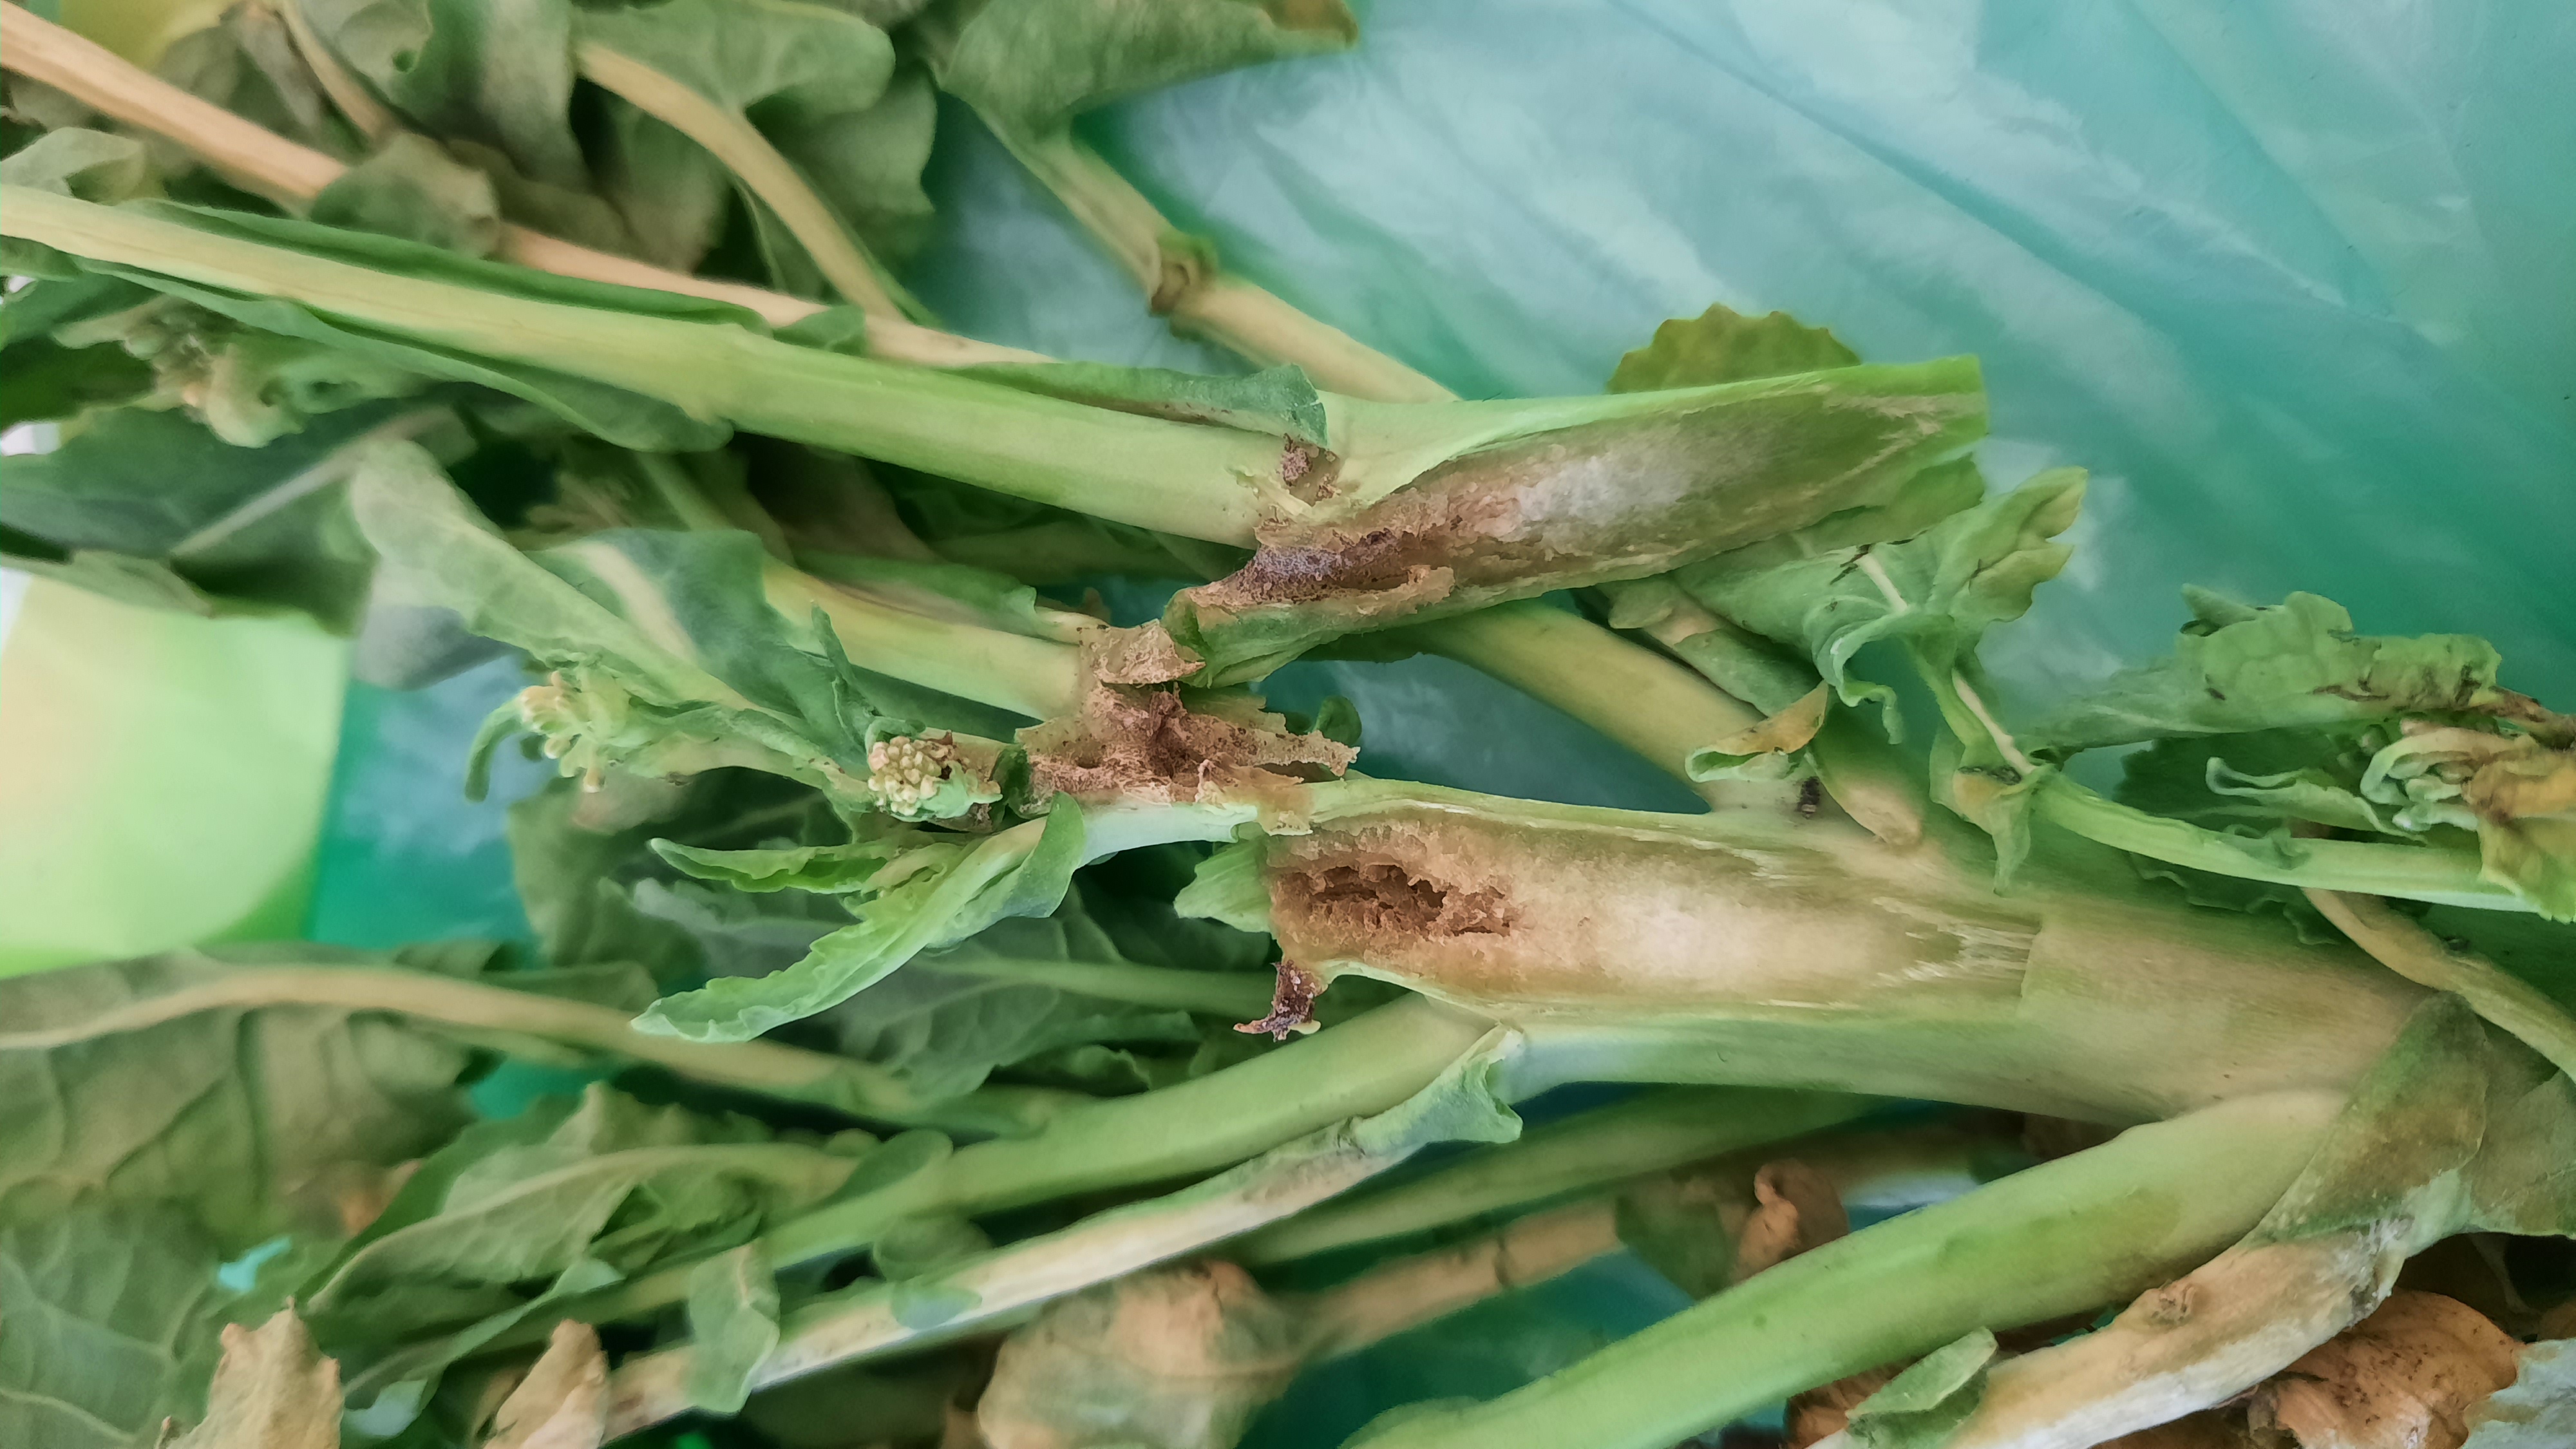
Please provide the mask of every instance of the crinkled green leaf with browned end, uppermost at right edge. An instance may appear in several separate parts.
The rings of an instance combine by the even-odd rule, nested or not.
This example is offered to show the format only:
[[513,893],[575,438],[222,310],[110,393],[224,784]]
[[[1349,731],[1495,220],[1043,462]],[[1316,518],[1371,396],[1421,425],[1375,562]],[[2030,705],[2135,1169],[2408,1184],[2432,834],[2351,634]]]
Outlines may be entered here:
[[2174,652],[2123,670],[2020,730],[2030,750],[2063,758],[2166,735],[2236,735],[2385,719],[2501,714],[2543,719],[2496,686],[2496,650],[2468,634],[2370,637],[2329,598],[2293,593],[2249,608],[2187,588],[2192,624]]

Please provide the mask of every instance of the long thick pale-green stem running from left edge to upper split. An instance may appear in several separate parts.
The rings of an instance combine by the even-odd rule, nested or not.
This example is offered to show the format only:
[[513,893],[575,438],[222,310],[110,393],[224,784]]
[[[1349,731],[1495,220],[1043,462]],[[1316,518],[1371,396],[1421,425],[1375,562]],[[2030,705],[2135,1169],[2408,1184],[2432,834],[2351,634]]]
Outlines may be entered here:
[[23,186],[0,191],[0,232],[1195,539],[1249,544],[1260,495],[1247,480],[1280,467],[1280,441],[1267,433],[1084,407],[744,327],[394,276]]

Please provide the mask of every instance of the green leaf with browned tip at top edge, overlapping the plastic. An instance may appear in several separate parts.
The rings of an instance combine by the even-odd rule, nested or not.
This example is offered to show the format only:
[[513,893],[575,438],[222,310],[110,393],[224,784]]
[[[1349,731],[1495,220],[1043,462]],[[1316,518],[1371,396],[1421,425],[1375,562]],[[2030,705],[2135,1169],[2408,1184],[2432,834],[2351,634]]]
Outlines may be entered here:
[[963,0],[922,23],[948,34],[935,62],[940,88],[1025,131],[1123,95],[1360,39],[1342,0]]

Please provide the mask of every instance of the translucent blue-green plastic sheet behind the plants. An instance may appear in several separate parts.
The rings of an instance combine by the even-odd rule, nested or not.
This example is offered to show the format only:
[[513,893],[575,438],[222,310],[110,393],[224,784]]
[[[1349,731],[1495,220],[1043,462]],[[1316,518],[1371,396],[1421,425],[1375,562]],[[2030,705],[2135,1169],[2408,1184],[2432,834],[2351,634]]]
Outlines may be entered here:
[[[1090,137],[1229,266],[1466,394],[1592,392],[1710,302],[1868,358],[1978,353],[1989,474],[2092,469],[1989,663],[2045,696],[2159,652],[2182,583],[2476,632],[2576,694],[2576,5],[2566,0],[1412,0],[1355,54],[1185,85]],[[1141,315],[963,113],[917,268],[953,325],[1229,369]],[[355,686],[312,931],[518,933],[500,810],[453,786],[518,678]],[[1687,807],[1461,668],[1298,665],[1365,766]],[[526,789],[528,779],[518,781]],[[1677,1305],[1633,1263],[1311,1377],[1255,1436],[1492,1395]],[[1716,1366],[1713,1366],[1716,1372]]]

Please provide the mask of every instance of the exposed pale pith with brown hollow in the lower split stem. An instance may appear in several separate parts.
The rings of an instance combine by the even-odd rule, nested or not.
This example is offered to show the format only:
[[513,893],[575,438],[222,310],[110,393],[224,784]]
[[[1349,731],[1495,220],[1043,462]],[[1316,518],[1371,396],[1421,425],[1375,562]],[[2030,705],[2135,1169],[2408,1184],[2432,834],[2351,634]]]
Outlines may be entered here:
[[1262,879],[1280,949],[1324,982],[1365,969],[1479,1008],[1803,1011],[1937,993],[1953,1013],[2014,1011],[2030,913],[1870,851],[1821,822],[1718,843],[1391,807],[1275,835]]

